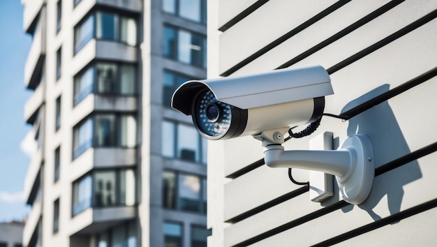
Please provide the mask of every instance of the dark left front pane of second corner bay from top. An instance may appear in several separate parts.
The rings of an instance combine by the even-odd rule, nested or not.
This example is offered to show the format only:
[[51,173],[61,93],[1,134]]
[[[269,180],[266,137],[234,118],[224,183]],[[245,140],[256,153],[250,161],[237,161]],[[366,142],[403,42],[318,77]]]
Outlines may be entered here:
[[117,65],[115,63],[97,63],[97,92],[112,93],[117,84]]

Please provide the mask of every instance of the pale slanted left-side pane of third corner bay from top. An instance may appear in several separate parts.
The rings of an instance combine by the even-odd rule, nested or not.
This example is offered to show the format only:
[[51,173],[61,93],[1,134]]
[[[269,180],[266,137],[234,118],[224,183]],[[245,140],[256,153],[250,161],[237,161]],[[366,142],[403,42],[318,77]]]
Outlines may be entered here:
[[93,120],[87,119],[73,130],[73,156],[77,157],[91,147],[93,137]]

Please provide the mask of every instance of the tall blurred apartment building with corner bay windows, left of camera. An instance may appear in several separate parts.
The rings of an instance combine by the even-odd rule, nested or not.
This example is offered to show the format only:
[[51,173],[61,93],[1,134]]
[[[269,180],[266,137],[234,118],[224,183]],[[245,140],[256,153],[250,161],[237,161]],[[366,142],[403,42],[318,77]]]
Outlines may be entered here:
[[205,246],[207,149],[172,91],[206,77],[206,0],[22,0],[38,145],[23,246]]

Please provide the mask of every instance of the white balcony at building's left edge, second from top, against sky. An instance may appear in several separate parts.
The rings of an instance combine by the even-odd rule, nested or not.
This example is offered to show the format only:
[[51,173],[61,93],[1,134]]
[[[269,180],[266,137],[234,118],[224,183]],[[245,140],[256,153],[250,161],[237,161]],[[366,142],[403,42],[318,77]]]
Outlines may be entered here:
[[45,59],[45,8],[40,10],[34,31],[26,65],[24,66],[24,84],[28,89],[36,89],[41,82]]

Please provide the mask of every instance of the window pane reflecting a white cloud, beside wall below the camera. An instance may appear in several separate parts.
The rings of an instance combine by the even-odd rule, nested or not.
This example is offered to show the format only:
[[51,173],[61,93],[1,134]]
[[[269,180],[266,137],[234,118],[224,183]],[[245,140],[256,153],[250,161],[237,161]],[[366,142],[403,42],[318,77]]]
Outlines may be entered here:
[[179,174],[179,209],[198,212],[200,202],[200,179],[194,175]]

